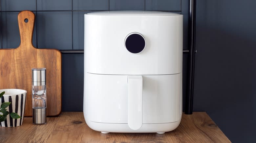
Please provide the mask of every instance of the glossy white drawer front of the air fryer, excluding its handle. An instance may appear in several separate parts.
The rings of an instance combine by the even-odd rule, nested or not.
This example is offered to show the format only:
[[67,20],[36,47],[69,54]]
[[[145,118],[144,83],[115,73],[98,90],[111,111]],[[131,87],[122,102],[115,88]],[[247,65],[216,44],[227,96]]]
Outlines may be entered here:
[[[90,121],[128,122],[128,75],[86,73],[84,111]],[[181,118],[181,73],[142,75],[142,123],[169,123]]]

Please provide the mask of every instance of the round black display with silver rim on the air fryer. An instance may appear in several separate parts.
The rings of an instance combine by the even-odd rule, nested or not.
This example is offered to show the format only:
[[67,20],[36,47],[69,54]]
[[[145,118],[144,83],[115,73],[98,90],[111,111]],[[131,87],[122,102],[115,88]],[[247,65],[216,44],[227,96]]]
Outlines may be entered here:
[[125,40],[125,47],[131,53],[140,53],[145,48],[145,39],[139,34],[131,34]]

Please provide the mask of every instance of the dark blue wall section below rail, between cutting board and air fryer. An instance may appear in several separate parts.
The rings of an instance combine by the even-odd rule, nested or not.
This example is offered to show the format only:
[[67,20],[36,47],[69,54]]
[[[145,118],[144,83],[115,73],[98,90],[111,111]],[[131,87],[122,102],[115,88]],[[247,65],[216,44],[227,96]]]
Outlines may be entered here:
[[62,55],[62,110],[83,110],[84,55]]

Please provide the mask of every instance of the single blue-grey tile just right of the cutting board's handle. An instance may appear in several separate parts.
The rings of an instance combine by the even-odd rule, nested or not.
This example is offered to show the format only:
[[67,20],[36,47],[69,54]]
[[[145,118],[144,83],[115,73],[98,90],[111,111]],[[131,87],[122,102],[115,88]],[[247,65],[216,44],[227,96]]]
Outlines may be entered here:
[[72,12],[37,12],[38,48],[72,50]]

